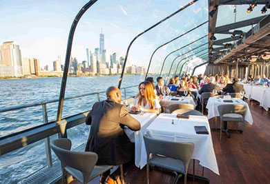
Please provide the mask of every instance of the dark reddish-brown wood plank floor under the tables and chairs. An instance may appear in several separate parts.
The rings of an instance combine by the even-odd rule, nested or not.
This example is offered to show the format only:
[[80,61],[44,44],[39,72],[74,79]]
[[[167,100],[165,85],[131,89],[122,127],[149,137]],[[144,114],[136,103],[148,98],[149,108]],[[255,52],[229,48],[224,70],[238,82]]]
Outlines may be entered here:
[[[253,125],[246,123],[243,134],[232,133],[231,138],[222,134],[222,141],[220,141],[220,132],[212,130],[213,147],[220,176],[204,168],[204,176],[209,178],[210,183],[270,183],[270,112],[261,109],[259,105],[255,105],[256,103],[255,101],[249,103]],[[211,119],[209,120],[211,127],[214,127],[214,121],[219,125],[218,119]],[[202,167],[197,161],[195,163],[195,174],[201,176]],[[191,164],[189,173],[192,174],[192,170]],[[146,183],[145,167],[139,170],[133,166],[127,172],[126,182]],[[90,183],[99,183],[98,179]],[[168,172],[160,170],[150,172],[150,183],[172,183],[173,179],[173,174]],[[184,179],[180,178],[178,183],[184,183]],[[197,182],[188,180],[187,183]]]

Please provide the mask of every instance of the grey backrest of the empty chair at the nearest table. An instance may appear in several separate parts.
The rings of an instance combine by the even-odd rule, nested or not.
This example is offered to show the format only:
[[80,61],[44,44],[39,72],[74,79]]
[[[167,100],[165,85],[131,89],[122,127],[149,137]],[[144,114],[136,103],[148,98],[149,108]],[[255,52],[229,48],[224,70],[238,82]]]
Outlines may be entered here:
[[184,163],[185,172],[187,172],[194,150],[193,143],[163,141],[153,139],[146,134],[144,134],[144,143],[146,146],[147,161],[149,161],[149,154],[151,153],[162,154],[173,159],[181,160]]

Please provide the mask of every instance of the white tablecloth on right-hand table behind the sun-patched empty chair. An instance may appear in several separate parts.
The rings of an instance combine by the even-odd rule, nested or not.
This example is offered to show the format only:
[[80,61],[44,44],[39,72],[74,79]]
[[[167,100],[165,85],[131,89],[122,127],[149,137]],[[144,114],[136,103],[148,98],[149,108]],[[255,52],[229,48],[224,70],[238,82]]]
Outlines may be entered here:
[[211,119],[215,116],[220,116],[220,114],[218,113],[218,105],[221,105],[221,104],[242,104],[242,105],[247,106],[247,112],[244,115],[244,120],[249,122],[249,124],[252,125],[253,119],[251,116],[251,112],[249,110],[249,105],[245,101],[242,101],[241,99],[233,99],[233,103],[228,103],[228,102],[223,102],[223,99],[210,97],[206,105],[206,108],[208,109],[208,115],[207,115],[208,119]]

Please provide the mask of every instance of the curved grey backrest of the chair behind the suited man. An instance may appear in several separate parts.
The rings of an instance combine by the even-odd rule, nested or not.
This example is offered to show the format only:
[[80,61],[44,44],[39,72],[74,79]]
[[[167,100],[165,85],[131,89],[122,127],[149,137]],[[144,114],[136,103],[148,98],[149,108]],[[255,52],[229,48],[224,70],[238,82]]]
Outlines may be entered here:
[[56,139],[50,143],[53,152],[64,167],[72,167],[79,170],[84,180],[88,179],[97,163],[97,154],[94,152],[72,152],[70,151],[71,141],[69,139]]

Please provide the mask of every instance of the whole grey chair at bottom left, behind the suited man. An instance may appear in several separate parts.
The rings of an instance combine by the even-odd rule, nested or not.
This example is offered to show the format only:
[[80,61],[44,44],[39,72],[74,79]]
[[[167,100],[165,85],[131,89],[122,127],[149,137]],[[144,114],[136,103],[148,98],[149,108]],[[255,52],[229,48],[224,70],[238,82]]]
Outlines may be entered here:
[[66,182],[66,172],[77,178],[80,183],[88,183],[113,168],[110,165],[95,165],[98,156],[94,152],[70,151],[70,139],[56,139],[50,143],[50,147],[62,163],[62,183]]

